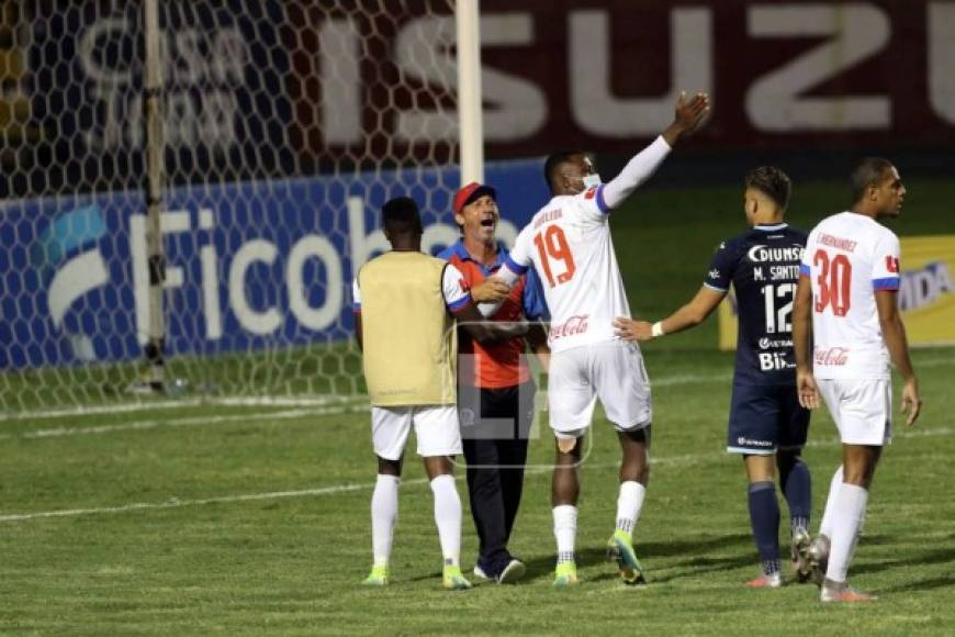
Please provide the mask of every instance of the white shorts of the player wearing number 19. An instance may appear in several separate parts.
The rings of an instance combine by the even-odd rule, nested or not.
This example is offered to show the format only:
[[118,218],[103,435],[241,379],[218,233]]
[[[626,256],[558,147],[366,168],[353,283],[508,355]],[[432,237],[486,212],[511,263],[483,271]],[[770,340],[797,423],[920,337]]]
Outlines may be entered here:
[[558,438],[584,435],[597,398],[618,432],[645,427],[653,417],[643,356],[632,343],[608,340],[554,353],[549,376],[550,426]]

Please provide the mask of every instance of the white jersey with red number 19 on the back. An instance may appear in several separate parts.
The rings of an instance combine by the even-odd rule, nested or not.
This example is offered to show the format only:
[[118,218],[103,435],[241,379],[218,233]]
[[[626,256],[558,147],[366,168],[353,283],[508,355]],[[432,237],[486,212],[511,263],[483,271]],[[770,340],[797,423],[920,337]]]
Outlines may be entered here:
[[603,189],[551,199],[520,232],[506,261],[516,273],[531,264],[537,270],[551,313],[552,351],[614,340],[614,318],[630,317]]

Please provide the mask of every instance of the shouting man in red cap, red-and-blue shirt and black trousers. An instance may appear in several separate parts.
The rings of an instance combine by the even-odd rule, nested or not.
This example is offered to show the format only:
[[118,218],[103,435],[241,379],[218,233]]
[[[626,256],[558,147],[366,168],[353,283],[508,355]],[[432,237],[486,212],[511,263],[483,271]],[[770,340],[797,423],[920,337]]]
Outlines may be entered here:
[[508,583],[525,573],[524,563],[507,550],[533,420],[535,385],[523,355],[531,343],[542,362],[548,362],[547,335],[537,323],[548,312],[533,270],[509,289],[496,278],[487,279],[507,257],[496,237],[501,212],[494,188],[471,182],[454,194],[452,205],[461,238],[438,256],[461,271],[475,302],[504,298],[493,321],[535,322],[527,342],[517,337],[482,345],[459,334],[458,411],[471,514],[480,539],[474,577]]

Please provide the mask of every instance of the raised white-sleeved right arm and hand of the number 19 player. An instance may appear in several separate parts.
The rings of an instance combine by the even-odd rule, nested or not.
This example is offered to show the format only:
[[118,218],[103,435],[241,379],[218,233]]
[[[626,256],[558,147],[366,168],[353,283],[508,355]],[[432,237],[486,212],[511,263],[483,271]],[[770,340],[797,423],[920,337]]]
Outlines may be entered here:
[[604,186],[603,198],[607,208],[617,208],[630,197],[633,190],[647,181],[679,139],[699,127],[708,112],[709,96],[696,93],[687,98],[685,92],[681,92],[676,100],[673,123],[652,144],[630,159],[617,177]]

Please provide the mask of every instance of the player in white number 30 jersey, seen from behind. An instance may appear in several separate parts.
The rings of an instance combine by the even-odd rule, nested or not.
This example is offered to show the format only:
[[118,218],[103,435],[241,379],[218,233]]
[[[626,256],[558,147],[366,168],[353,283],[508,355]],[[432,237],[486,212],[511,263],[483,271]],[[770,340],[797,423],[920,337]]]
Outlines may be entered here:
[[852,210],[822,220],[809,234],[793,324],[799,402],[814,409],[822,394],[842,440],[842,465],[809,549],[823,602],[874,599],[845,580],[876,463],[891,440],[889,361],[905,381],[909,425],[922,403],[898,309],[899,239],[876,221],[899,215],[906,187],[880,158],[864,159],[852,187]]

